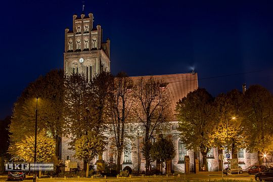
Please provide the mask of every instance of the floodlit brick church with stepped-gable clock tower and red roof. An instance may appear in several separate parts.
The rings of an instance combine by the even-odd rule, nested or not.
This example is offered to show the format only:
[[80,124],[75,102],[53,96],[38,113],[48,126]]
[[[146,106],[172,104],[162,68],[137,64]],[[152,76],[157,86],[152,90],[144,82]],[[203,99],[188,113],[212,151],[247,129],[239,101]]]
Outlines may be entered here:
[[[110,40],[103,39],[103,31],[100,25],[94,26],[94,16],[89,13],[88,16],[81,14],[80,16],[73,15],[73,28],[65,29],[65,51],[64,51],[64,70],[67,74],[84,73],[86,79],[92,79],[96,74],[102,71],[111,71],[110,69]],[[144,76],[148,78],[150,76]],[[138,80],[140,77],[131,77],[133,80]],[[170,106],[172,110],[171,120],[169,121],[169,131],[165,133],[176,147],[176,157],[168,164],[169,170],[174,172],[184,172],[184,157],[190,156],[190,166],[194,166],[194,152],[188,151],[183,143],[179,140],[179,131],[177,130],[178,121],[175,117],[175,106],[179,99],[187,96],[189,92],[198,88],[198,74],[183,73],[183,74],[168,74],[168,75],[154,75],[154,79],[161,79],[168,83],[167,88],[170,93]],[[134,140],[127,141],[128,147],[121,157],[123,161],[122,169],[130,168],[135,171],[145,170],[145,159],[141,153],[144,135],[139,131],[139,124],[126,128],[126,132],[134,136]],[[137,134],[138,133],[138,134]],[[82,161],[78,161],[73,157],[74,151],[68,150],[69,139],[62,139],[62,160],[67,164],[68,162],[77,161],[82,166]],[[139,148],[132,148],[138,146]],[[224,153],[224,152],[223,152]],[[126,155],[125,155],[126,154]],[[257,154],[252,154],[241,149],[238,153],[239,164],[243,170],[246,170],[251,165],[256,164]],[[102,160],[107,164],[113,164],[116,157],[110,146],[102,156]],[[200,165],[202,164],[202,155],[197,153],[197,158]],[[218,171],[218,150],[212,148],[208,155],[209,171]],[[94,163],[96,160],[94,161]],[[226,166],[228,163],[224,161]],[[152,163],[152,168],[156,168],[156,164]],[[166,166],[167,168],[167,166]],[[69,168],[66,166],[66,170]]]

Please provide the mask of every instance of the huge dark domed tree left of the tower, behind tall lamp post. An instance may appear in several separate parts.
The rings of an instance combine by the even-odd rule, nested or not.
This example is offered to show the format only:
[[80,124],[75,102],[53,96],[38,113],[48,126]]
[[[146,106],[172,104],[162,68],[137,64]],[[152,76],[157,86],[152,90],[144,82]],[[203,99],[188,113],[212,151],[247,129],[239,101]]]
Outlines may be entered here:
[[30,136],[35,129],[36,97],[38,99],[38,130],[45,129],[55,140],[56,156],[61,154],[63,135],[63,70],[53,70],[40,76],[24,89],[14,104],[10,125],[11,145]]

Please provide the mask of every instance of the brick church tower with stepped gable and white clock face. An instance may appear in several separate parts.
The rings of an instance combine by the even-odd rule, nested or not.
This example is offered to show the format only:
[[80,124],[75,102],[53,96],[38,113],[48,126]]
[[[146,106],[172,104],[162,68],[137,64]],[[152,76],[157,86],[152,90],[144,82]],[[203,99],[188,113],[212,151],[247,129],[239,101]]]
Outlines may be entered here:
[[64,71],[83,73],[92,79],[102,71],[110,72],[110,40],[103,42],[101,25],[93,27],[92,13],[73,15],[73,29],[65,29]]

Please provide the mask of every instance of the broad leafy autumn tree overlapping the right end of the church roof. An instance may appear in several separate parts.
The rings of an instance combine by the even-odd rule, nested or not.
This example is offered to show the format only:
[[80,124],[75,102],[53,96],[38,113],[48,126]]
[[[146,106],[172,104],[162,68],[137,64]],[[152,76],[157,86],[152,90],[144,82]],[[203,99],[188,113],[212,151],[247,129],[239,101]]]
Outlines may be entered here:
[[180,140],[188,150],[200,149],[203,156],[202,167],[207,167],[207,153],[215,146],[215,112],[213,97],[198,88],[176,105]]

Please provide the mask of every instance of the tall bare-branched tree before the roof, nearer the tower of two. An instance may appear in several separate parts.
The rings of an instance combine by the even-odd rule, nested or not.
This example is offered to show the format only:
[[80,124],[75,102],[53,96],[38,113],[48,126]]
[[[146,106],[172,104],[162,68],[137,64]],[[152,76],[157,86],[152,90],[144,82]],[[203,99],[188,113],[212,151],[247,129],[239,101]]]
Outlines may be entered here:
[[117,152],[117,171],[120,171],[121,155],[124,148],[124,128],[131,118],[131,108],[134,101],[132,95],[132,80],[125,73],[118,73],[110,97],[110,130],[114,135]]

